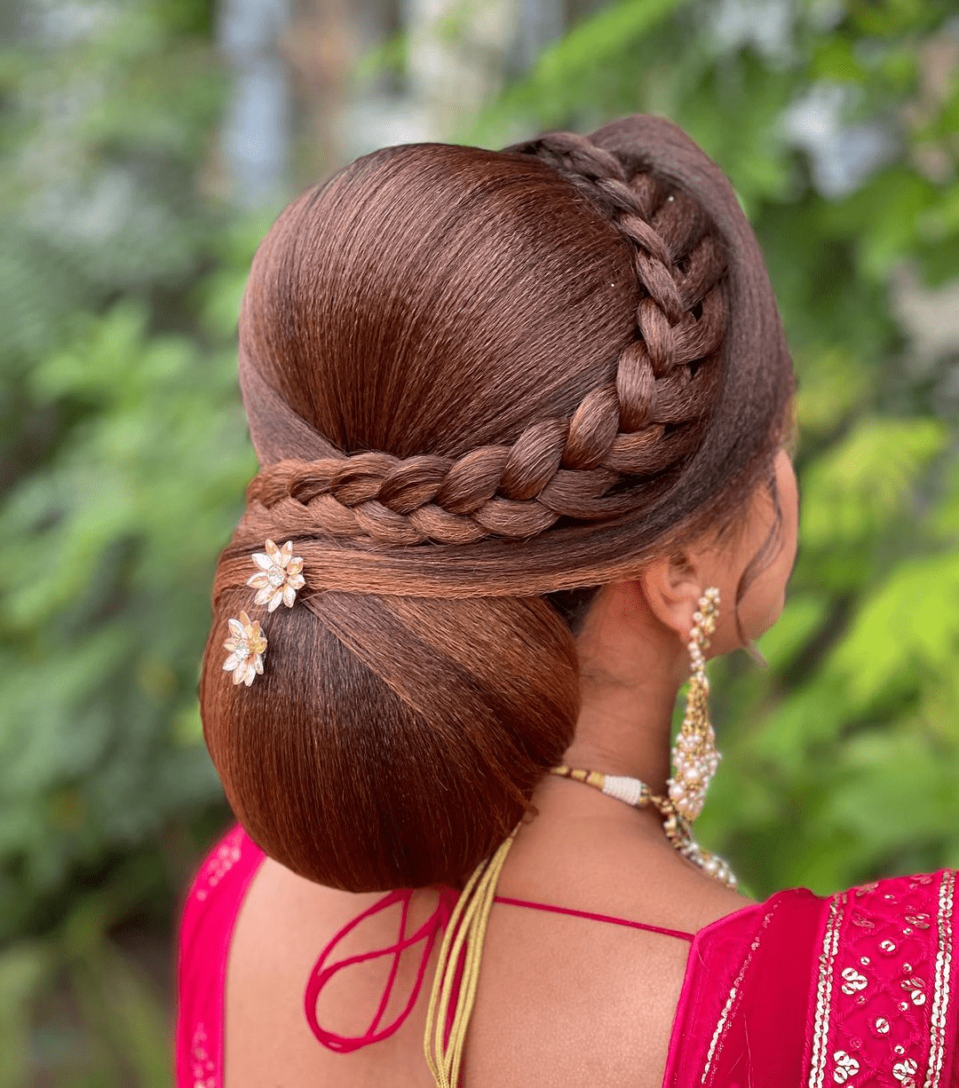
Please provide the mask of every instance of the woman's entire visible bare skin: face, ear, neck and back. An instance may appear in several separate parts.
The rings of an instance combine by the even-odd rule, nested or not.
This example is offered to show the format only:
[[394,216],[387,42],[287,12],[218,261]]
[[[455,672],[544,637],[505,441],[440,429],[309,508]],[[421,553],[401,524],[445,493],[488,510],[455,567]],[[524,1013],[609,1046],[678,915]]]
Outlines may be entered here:
[[[778,549],[739,605],[750,640],[782,611],[796,557],[796,478],[785,453],[775,472],[783,517]],[[731,605],[742,571],[774,523],[766,489],[755,492],[740,522],[734,535],[706,537],[599,593],[577,640],[581,710],[567,764],[638,777],[664,791],[673,706],[689,671],[692,615],[703,591],[717,586],[720,620],[708,654],[741,645]],[[749,903],[680,857],[652,809],[631,808],[555,776],[541,783],[533,804],[537,815],[516,837],[500,895],[689,934]],[[226,1088],[432,1088],[422,1056],[429,986],[394,1036],[348,1058],[318,1046],[303,1016],[304,979],[324,935],[379,898],[311,885],[275,862],[263,863],[230,951]],[[418,891],[408,930],[434,905],[434,892]],[[395,916],[378,915],[337,949],[337,957],[395,939]],[[660,1088],[688,955],[681,939],[494,905],[469,1025],[466,1088]],[[401,962],[396,989],[404,1000],[417,959]],[[345,973],[351,977],[321,999],[321,1021],[362,1031],[385,969]]]

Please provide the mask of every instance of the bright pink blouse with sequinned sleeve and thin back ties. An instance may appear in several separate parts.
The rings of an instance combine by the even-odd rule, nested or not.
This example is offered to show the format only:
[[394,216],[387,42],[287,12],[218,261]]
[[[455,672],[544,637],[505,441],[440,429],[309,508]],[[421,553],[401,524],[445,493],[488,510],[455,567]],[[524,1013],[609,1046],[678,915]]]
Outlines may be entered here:
[[[226,956],[246,889],[263,860],[242,828],[209,853],[186,899],[180,928],[176,1088],[222,1088]],[[778,892],[698,934],[497,897],[520,907],[575,914],[598,924],[651,929],[688,940],[690,953],[663,1088],[959,1088],[956,874],[897,877],[822,899]],[[430,951],[456,893],[406,934],[409,892],[384,895],[327,945],[306,984],[306,1015],[333,1050],[369,1046],[395,1031],[416,1002]],[[395,944],[333,959],[362,917],[401,906]],[[407,1005],[382,1025],[399,954],[422,945]],[[394,968],[365,1036],[344,1038],[316,1023],[316,998],[336,970],[392,955]]]

